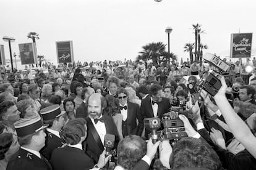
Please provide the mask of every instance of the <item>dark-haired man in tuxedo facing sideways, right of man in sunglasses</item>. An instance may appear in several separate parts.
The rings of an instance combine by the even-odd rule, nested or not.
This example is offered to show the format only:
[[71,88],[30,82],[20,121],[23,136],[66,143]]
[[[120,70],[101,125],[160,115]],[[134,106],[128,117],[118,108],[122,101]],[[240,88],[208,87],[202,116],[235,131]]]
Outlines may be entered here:
[[[142,100],[142,105],[140,106],[140,111],[143,118],[162,118],[164,113],[169,112],[171,107],[169,99],[162,97],[163,91],[159,84],[153,84],[149,90],[150,96]],[[145,129],[145,137],[148,138],[150,133],[149,129]]]

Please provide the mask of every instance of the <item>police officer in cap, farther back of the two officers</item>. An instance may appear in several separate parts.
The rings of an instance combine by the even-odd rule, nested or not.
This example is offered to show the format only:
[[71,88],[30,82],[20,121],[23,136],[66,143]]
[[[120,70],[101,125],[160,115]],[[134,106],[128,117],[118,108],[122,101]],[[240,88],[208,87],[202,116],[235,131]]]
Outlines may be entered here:
[[51,105],[43,108],[40,113],[43,117],[43,123],[49,124],[45,131],[45,147],[43,147],[40,152],[47,160],[50,160],[53,150],[66,143],[61,132],[61,128],[65,123],[64,115],[66,111],[61,111],[59,105]]

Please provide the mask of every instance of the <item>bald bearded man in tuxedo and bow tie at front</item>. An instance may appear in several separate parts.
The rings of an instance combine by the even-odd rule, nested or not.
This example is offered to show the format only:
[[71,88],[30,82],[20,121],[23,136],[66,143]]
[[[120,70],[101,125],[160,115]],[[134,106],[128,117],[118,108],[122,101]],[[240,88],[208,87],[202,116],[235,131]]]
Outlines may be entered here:
[[118,132],[114,120],[110,116],[102,115],[106,107],[106,99],[101,94],[95,93],[88,99],[88,134],[84,144],[89,155],[95,163],[98,162],[100,154],[104,150],[104,137],[106,134],[115,136],[114,148],[117,148],[119,142]]

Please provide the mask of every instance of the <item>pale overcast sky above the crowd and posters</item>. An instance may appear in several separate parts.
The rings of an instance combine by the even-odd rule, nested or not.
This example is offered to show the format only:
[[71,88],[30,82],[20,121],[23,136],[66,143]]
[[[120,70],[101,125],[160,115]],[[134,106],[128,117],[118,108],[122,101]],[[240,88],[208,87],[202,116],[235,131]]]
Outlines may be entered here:
[[[229,56],[231,33],[253,33],[252,55],[256,53],[254,0],[1,0],[0,44],[6,59],[9,47],[2,36],[12,36],[12,52],[30,31],[40,34],[38,55],[57,61],[55,41],[72,40],[74,59],[82,62],[134,60],[142,46],[162,41],[171,33],[171,52],[180,60],[189,58],[184,44],[194,42],[192,24],[200,23],[202,44],[221,57]],[[167,51],[166,46],[166,51]]]

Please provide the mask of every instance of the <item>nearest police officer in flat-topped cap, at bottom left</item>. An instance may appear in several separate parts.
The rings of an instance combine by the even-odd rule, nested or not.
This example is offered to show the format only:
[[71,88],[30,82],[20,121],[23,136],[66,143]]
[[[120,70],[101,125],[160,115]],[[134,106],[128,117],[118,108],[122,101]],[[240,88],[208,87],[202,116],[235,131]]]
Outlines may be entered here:
[[51,170],[51,164],[39,153],[45,146],[44,125],[40,116],[34,115],[14,123],[20,149],[12,155],[7,170]]

